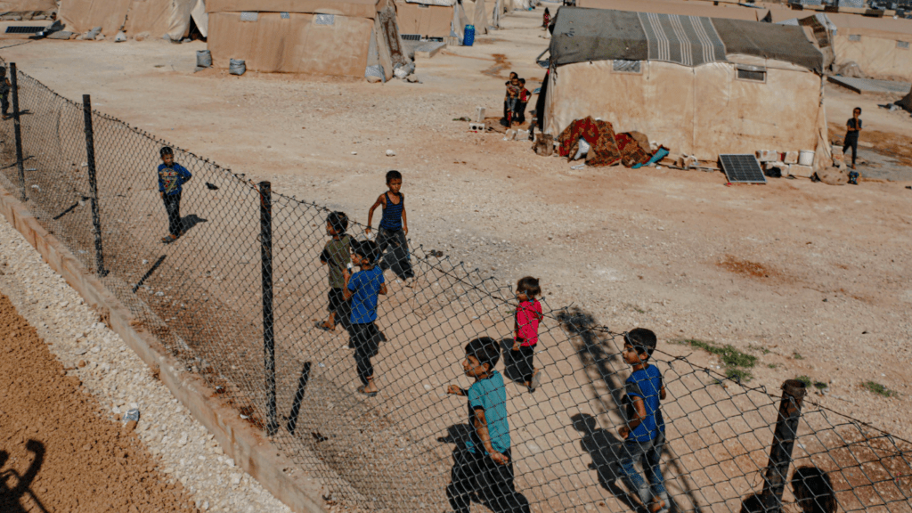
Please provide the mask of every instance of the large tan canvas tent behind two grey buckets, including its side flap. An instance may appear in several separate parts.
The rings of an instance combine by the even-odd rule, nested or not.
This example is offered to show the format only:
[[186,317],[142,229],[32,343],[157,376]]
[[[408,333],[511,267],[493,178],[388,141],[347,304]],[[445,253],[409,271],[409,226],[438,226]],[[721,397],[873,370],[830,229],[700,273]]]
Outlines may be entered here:
[[391,0],[209,0],[212,63],[390,79],[408,64]]

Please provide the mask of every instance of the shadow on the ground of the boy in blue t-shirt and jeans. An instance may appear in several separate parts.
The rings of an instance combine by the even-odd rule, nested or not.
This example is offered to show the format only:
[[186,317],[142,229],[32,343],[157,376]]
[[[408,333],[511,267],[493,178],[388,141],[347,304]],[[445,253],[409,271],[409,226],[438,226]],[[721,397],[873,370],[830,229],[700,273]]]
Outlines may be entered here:
[[579,445],[592,457],[592,468],[598,474],[598,483],[611,492],[611,495],[627,504],[638,513],[646,509],[639,505],[633,496],[617,486],[617,479],[623,474],[620,460],[624,452],[624,442],[606,429],[598,427],[596,417],[590,414],[575,414],[570,417],[576,431],[583,434]]

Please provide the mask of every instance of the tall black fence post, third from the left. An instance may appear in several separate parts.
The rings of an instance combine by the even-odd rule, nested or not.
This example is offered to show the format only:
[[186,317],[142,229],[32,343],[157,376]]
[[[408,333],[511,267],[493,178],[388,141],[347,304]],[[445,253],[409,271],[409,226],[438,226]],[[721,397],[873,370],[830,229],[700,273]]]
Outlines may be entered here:
[[263,348],[266,370],[266,433],[279,429],[275,413],[275,330],[273,322],[273,198],[272,184],[260,182],[260,257],[263,273]]

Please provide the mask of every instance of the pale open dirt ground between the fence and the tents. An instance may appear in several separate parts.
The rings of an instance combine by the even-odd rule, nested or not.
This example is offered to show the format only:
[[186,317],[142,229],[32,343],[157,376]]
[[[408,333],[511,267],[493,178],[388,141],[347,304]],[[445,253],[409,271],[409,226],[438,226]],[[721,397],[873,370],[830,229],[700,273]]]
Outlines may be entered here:
[[[41,41],[0,55],[67,98],[91,93],[98,110],[361,223],[383,173],[399,169],[414,244],[506,282],[541,277],[551,308],[574,304],[614,330],[651,328],[674,356],[716,365],[668,342],[732,344],[762,362],[751,384],[775,390],[809,376],[829,385],[814,402],[912,438],[905,164],[890,164],[900,182],[726,187],[720,173],[572,170],[527,142],[466,131],[454,119],[475,106],[496,115],[510,70],[537,87],[544,70],[534,58],[548,43],[540,15],[516,13],[475,47],[419,59],[421,84],[193,73],[202,43]],[[826,93],[831,135],[861,105],[869,133],[885,134],[863,150],[906,155],[907,113],[831,86]],[[164,219],[156,222],[163,234]],[[548,374],[555,390],[557,371]],[[898,395],[863,390],[869,381]],[[534,405],[523,396],[517,408],[535,420],[569,416],[559,392]],[[551,432],[576,445],[575,421],[554,422],[563,425]]]

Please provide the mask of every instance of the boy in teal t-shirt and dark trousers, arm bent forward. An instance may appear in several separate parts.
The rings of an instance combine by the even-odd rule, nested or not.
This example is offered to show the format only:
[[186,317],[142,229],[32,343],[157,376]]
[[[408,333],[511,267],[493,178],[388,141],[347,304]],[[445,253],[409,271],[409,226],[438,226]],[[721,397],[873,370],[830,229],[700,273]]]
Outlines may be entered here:
[[529,501],[513,487],[510,457],[510,424],[503,376],[494,371],[501,358],[497,342],[482,337],[465,346],[462,370],[475,382],[464,390],[457,385],[447,393],[469,398],[472,435],[465,450],[453,451],[451,483],[447,498],[456,513],[469,513],[472,493],[477,493],[493,511],[529,513]]

